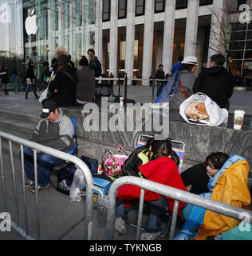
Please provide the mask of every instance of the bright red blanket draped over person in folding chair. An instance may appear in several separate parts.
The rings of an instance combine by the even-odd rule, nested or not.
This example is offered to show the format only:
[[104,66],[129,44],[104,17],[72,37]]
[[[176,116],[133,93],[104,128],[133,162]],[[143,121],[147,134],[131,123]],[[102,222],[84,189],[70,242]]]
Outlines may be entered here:
[[[160,184],[171,186],[179,190],[187,191],[186,187],[183,185],[183,181],[180,177],[179,170],[174,161],[171,158],[163,157],[156,160],[152,160],[143,166],[139,166],[141,174],[144,175],[149,181],[158,182]],[[134,185],[124,185],[120,186],[118,189],[118,198],[124,203],[125,208],[135,205],[140,199],[140,187]],[[150,202],[159,200],[160,194],[155,192],[145,190],[144,201]],[[168,198],[168,208],[170,211],[173,210],[174,199]],[[179,202],[179,215],[181,214],[181,208],[185,206],[186,203]]]

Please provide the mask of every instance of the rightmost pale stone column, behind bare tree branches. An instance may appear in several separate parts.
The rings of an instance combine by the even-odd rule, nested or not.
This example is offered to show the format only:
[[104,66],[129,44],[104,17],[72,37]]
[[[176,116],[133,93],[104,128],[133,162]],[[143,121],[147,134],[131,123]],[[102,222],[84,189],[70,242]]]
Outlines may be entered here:
[[214,0],[212,7],[212,17],[211,17],[211,31],[209,40],[209,50],[207,64],[210,65],[210,58],[213,54],[223,52],[222,50],[222,20],[226,16],[226,0]]

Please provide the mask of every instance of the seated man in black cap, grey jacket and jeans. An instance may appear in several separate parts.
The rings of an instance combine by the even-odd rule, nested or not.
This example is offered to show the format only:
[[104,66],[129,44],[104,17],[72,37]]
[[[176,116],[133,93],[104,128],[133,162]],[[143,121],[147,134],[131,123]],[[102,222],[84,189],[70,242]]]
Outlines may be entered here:
[[[57,103],[51,100],[42,102],[41,120],[33,132],[32,141],[44,146],[49,146],[56,150],[69,151],[73,149],[73,124],[71,120],[58,108]],[[30,182],[26,183],[26,188],[31,188],[35,192],[33,150],[24,148],[25,171]],[[49,186],[49,177],[53,171],[53,163],[57,158],[50,154],[43,154],[37,151],[37,185],[38,191]]]

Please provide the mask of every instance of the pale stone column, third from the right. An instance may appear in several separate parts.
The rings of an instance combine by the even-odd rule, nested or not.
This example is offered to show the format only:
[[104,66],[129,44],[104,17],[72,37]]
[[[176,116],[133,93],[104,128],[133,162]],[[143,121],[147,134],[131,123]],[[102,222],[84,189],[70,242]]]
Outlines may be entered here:
[[172,66],[174,30],[175,30],[175,0],[166,0],[163,27],[163,71],[170,73]]

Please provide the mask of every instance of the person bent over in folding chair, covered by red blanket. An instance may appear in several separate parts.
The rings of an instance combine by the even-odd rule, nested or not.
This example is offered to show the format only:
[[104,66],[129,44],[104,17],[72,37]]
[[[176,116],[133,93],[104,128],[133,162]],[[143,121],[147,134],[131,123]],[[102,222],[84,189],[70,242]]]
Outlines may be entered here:
[[[169,158],[170,154],[170,140],[153,141],[150,146],[150,161],[138,167],[140,176],[152,182],[187,191],[180,178],[176,163]],[[128,212],[139,202],[140,190],[140,187],[134,185],[124,185],[118,189],[119,205],[116,207],[116,230],[119,234],[126,234]],[[147,202],[148,218],[141,240],[151,240],[159,235],[163,215],[166,213],[167,206],[170,211],[173,210],[174,199],[145,190],[144,202]],[[181,208],[185,205],[186,203],[179,202],[180,215]]]

